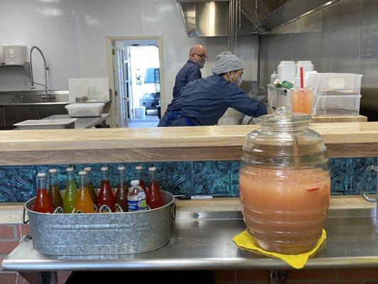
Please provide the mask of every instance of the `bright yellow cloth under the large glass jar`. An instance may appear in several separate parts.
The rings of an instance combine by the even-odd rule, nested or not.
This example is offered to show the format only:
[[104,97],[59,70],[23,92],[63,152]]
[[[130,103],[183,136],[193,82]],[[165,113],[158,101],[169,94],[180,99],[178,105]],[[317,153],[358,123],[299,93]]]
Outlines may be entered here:
[[320,239],[318,239],[318,242],[316,243],[315,247],[311,251],[308,251],[308,253],[301,253],[297,255],[272,253],[270,251],[265,251],[265,249],[261,249],[255,245],[253,237],[248,233],[247,230],[235,236],[233,238],[233,242],[236,244],[236,246],[240,246],[244,249],[252,249],[253,251],[259,251],[265,256],[273,256],[275,258],[282,259],[282,261],[289,264],[289,266],[299,269],[305,266],[305,264],[308,261],[308,258],[312,256],[314,253],[316,253],[316,251],[318,251],[319,247],[321,246],[321,244],[323,244],[326,238],[327,233],[326,230],[323,229],[321,237]]

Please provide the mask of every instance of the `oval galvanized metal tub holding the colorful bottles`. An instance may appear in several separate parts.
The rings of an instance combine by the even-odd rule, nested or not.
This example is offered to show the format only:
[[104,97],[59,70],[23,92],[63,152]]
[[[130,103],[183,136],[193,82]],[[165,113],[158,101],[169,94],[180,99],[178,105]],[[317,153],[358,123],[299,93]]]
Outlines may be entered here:
[[52,255],[125,254],[153,251],[171,236],[174,196],[161,190],[164,206],[143,212],[107,214],[41,214],[35,197],[24,205],[33,246]]

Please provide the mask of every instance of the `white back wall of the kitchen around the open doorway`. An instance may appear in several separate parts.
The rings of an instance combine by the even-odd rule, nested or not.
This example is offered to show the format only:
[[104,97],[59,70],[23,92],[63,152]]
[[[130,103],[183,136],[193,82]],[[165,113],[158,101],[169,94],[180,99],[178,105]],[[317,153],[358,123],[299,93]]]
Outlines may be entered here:
[[[175,0],[0,0],[0,7],[0,26],[5,27],[0,30],[0,45],[40,46],[50,65],[51,89],[67,89],[72,77],[107,77],[108,35],[162,35],[166,104],[191,45],[208,48],[204,77],[211,75],[216,55],[228,50],[226,38],[188,38]],[[257,40],[240,38],[240,43],[235,53],[245,60],[244,78],[255,80]],[[34,68],[42,72],[37,62]],[[0,90],[4,90],[1,77],[0,72]],[[7,88],[29,88],[19,81]]]

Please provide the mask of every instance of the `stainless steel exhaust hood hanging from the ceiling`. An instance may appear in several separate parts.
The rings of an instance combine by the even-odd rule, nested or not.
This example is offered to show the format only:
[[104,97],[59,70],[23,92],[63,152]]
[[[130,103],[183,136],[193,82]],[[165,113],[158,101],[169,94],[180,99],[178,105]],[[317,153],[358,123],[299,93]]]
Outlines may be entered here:
[[176,0],[189,37],[265,33],[340,0]]

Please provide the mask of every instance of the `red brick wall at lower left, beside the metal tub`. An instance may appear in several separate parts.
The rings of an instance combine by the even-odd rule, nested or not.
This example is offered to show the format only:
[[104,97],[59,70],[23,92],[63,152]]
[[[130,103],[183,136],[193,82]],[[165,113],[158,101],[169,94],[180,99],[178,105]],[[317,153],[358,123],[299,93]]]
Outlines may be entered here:
[[[30,234],[29,224],[0,224],[0,263],[16,248],[20,242],[20,236]],[[64,284],[68,272],[58,273],[58,284]],[[3,271],[0,267],[0,284],[27,284],[21,275],[15,272]]]

